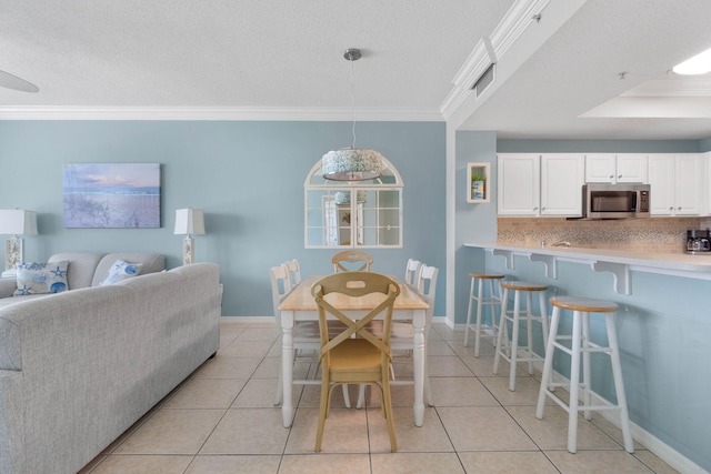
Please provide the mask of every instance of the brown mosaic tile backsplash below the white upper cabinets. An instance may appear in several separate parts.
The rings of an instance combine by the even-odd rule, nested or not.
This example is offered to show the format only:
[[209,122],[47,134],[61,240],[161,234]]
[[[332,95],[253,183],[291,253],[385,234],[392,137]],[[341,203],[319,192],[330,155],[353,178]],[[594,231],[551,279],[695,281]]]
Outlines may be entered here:
[[537,246],[559,241],[588,249],[683,253],[687,230],[711,228],[711,218],[649,218],[583,221],[549,218],[499,218],[498,242]]

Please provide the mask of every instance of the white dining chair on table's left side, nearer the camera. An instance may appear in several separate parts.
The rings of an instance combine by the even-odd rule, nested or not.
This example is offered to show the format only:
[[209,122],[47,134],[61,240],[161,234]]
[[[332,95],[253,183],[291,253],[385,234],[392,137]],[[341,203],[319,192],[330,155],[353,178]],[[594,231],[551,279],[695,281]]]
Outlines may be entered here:
[[[269,269],[269,276],[271,280],[271,297],[272,305],[274,312],[274,321],[277,322],[277,327],[279,330],[279,334],[281,333],[281,311],[279,310],[279,305],[287,297],[293,286],[291,285],[291,280],[289,278],[289,269],[287,264],[281,264],[278,266],[272,266]],[[339,321],[329,321],[329,331],[334,334],[341,332],[346,326]],[[319,357],[317,356],[319,350],[321,349],[321,339],[319,336],[319,323],[318,321],[300,321],[294,323],[293,326],[293,349],[297,353],[298,357],[294,357],[294,361],[299,359],[300,362],[311,362],[320,364]],[[306,352],[304,352],[306,351]],[[283,367],[279,367],[279,381],[277,385],[277,395],[274,399],[274,405],[281,404],[283,401]],[[348,387],[343,387],[343,403],[347,407],[350,409],[351,402],[348,393]]]

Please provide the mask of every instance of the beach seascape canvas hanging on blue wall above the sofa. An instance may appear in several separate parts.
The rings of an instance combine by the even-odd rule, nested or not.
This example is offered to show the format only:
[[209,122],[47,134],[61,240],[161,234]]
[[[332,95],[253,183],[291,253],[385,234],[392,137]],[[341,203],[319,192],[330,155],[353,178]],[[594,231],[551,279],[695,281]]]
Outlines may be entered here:
[[64,228],[160,228],[160,163],[69,163]]

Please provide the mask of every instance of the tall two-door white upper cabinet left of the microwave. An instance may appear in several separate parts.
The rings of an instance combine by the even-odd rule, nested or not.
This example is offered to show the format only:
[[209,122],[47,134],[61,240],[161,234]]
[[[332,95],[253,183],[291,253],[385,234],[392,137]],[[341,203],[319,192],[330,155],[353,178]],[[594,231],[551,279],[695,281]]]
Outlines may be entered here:
[[498,164],[500,215],[582,215],[581,154],[502,153]]

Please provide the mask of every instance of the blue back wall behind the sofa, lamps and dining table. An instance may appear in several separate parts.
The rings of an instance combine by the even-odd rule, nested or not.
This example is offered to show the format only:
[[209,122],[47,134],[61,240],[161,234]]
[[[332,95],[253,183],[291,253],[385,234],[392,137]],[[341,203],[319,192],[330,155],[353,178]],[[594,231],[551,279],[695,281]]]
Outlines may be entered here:
[[[358,143],[382,152],[404,182],[404,244],[369,250],[374,271],[404,274],[408,258],[441,269],[445,285],[443,122],[359,122]],[[60,251],[148,251],[182,263],[174,210],[206,212],[196,260],[220,265],[228,316],[272,314],[268,269],[298,259],[304,274],[329,273],[336,250],[306,250],[303,182],[323,153],[351,143],[350,122],[2,121],[0,209],[38,212],[40,235],[26,260]],[[160,229],[63,229],[62,164],[161,163]],[[435,315],[444,314],[444,297]]]

